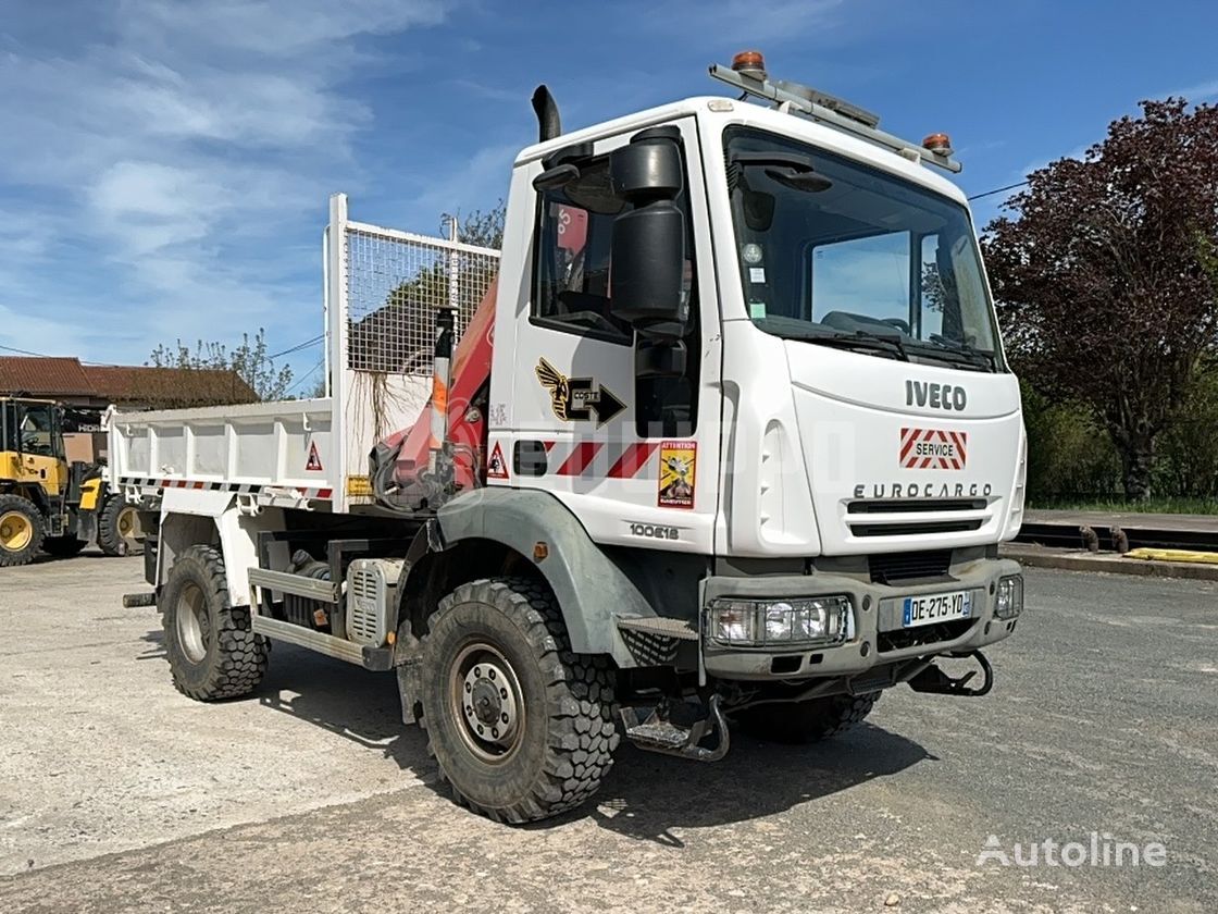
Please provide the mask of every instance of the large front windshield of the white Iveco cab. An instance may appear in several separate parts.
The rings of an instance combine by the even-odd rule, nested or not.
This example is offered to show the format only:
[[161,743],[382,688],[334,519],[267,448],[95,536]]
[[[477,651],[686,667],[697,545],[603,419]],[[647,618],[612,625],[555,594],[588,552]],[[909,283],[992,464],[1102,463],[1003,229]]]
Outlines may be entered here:
[[760,130],[726,133],[737,256],[767,333],[876,356],[998,370],[965,207]]

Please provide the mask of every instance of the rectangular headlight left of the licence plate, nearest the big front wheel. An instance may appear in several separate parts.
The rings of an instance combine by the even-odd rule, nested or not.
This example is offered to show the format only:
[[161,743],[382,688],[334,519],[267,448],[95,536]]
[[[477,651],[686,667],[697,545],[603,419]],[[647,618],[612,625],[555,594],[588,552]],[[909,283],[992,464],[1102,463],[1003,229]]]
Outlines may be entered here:
[[722,645],[794,647],[838,645],[854,635],[850,598],[714,600],[706,630]]

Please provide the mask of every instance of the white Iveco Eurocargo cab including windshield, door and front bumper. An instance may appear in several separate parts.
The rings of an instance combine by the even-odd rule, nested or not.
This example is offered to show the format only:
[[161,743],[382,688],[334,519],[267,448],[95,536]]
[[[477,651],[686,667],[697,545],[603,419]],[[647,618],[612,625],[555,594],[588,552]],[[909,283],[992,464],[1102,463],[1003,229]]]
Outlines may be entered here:
[[[615,193],[657,145],[676,179]],[[607,548],[706,558],[666,614],[708,675],[892,685],[1015,626],[994,613],[1022,596],[996,554],[1023,509],[1019,389],[967,202],[912,158],[722,97],[516,158],[488,442],[512,466],[488,485],[548,492]],[[660,205],[677,236],[627,275],[630,214]]]

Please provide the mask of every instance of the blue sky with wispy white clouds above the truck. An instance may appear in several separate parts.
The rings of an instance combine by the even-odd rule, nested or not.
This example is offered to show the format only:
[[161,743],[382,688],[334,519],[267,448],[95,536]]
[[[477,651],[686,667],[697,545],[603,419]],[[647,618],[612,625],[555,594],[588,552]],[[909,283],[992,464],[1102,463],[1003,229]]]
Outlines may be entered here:
[[[493,206],[536,139],[775,78],[951,134],[968,194],[1080,155],[1146,97],[1218,101],[1218,4],[1162,0],[0,0],[0,353],[140,364],[322,331],[320,235]],[[726,87],[722,87],[726,89]],[[984,225],[1005,195],[974,204]],[[286,357],[312,386],[320,345]]]

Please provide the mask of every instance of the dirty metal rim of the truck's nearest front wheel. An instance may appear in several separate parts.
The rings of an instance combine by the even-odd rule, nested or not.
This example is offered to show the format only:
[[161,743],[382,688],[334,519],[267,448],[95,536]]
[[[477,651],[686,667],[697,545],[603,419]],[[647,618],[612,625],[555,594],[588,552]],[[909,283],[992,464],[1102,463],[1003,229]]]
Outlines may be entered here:
[[448,695],[465,746],[499,764],[520,747],[525,725],[520,680],[503,653],[487,643],[468,645],[453,661]]

